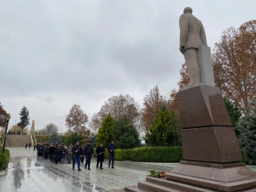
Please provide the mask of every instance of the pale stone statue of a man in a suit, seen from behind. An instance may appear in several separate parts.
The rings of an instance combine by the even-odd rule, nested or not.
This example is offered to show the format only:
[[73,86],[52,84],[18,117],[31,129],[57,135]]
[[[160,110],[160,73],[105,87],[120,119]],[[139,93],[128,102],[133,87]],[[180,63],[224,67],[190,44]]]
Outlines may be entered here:
[[190,84],[196,84],[201,82],[198,47],[207,45],[207,41],[201,21],[192,12],[192,8],[187,7],[180,17],[180,51],[188,65]]

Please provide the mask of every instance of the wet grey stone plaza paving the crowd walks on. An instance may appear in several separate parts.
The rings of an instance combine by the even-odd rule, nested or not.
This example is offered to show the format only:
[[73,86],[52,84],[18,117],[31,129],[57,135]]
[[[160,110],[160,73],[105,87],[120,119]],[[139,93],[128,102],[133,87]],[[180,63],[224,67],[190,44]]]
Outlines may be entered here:
[[[170,171],[178,164],[139,163],[131,161],[115,161],[115,169],[96,168],[96,160],[92,159],[91,170],[81,171],[77,165],[72,170],[71,164],[52,164],[49,160],[37,159],[36,151],[24,148],[8,148],[11,152],[10,163],[6,174],[0,175],[0,191],[111,191],[122,189],[127,185],[135,185],[145,180],[149,170]],[[256,166],[248,166],[256,171]]]

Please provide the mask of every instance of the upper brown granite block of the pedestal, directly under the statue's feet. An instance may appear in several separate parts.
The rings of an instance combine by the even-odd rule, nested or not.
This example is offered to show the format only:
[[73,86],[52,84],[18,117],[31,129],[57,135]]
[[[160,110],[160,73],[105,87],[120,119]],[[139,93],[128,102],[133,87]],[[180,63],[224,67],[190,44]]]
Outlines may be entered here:
[[225,126],[231,120],[219,88],[200,85],[178,92],[182,128]]

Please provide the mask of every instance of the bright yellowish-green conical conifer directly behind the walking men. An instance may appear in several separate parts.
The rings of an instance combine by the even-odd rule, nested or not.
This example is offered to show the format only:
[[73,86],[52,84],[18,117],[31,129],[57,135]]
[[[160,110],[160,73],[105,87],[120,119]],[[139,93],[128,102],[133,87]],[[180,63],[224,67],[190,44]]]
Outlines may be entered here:
[[101,127],[98,129],[98,134],[96,136],[96,144],[99,146],[101,143],[104,147],[107,147],[112,139],[112,129],[115,124],[115,119],[111,117],[111,114],[104,119]]

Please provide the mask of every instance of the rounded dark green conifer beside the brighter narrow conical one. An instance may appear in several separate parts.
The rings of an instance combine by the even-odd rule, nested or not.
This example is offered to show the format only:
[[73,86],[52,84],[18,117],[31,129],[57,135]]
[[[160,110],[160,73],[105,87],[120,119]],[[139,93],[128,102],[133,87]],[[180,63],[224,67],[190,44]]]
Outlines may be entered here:
[[113,127],[113,140],[118,148],[128,149],[138,147],[140,144],[138,131],[131,126],[128,117],[125,115]]

